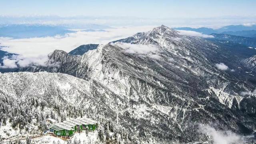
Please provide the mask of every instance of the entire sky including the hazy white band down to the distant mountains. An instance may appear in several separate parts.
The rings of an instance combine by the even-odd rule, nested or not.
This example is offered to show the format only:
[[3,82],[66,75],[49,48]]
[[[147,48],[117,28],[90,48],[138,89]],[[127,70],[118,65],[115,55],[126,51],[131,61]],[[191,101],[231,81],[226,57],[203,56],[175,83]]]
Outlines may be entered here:
[[1,0],[0,24],[165,24],[220,27],[255,22],[255,0]]

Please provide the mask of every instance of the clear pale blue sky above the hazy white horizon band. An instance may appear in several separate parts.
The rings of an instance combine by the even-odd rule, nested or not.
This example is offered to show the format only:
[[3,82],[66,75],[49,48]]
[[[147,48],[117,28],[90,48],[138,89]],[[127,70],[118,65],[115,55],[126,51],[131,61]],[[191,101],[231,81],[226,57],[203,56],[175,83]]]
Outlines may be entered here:
[[1,0],[0,7],[0,15],[7,16],[256,16],[256,0]]

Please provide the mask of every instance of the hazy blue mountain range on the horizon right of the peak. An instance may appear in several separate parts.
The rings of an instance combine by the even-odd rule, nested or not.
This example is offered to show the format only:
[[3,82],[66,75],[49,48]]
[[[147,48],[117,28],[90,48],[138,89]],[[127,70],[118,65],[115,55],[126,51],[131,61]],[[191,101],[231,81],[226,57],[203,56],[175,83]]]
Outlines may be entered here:
[[190,28],[190,27],[180,27],[180,28],[174,28],[175,30],[190,30],[194,32],[200,32],[202,34],[231,34],[235,36],[246,36],[246,37],[256,37],[256,25],[252,26],[244,26],[244,25],[230,25],[230,26],[224,26],[222,28],[218,29],[212,29],[212,28]]

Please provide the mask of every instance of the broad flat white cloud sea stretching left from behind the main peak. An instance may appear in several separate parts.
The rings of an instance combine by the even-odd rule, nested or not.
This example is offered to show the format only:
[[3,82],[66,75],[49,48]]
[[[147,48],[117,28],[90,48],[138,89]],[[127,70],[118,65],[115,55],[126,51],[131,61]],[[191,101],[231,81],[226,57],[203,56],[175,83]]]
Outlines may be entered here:
[[155,26],[134,26],[106,29],[108,32],[74,32],[64,36],[43,38],[10,39],[0,38],[0,46],[8,46],[2,50],[21,54],[25,57],[47,55],[54,50],[70,52],[82,44],[106,44],[132,36],[137,32],[146,32]]

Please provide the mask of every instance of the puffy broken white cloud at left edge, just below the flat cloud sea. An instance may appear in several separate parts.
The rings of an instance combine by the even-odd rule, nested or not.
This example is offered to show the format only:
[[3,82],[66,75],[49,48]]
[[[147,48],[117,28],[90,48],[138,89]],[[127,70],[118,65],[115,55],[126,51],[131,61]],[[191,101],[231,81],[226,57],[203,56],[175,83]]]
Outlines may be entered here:
[[59,64],[49,60],[48,56],[24,57],[22,55],[13,55],[4,57],[3,65],[0,68],[23,68],[32,66],[58,67]]

